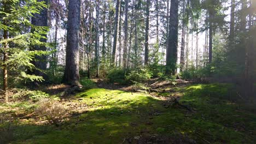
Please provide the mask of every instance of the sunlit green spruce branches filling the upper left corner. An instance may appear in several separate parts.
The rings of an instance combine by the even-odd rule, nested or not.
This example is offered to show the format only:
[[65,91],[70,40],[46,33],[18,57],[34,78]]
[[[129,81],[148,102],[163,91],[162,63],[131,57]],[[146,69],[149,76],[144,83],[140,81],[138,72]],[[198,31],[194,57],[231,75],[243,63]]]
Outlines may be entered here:
[[[29,75],[27,70],[36,69],[32,63],[37,61],[36,56],[49,54],[31,49],[34,45],[47,45],[40,39],[46,39],[44,35],[48,32],[48,27],[31,24],[33,14],[40,13],[47,5],[36,0],[0,0],[0,4],[0,33],[8,33],[7,39],[0,38],[1,53],[8,53],[7,61],[0,60],[0,65],[7,65],[15,79],[43,81],[43,77]],[[8,44],[8,49],[4,49],[5,44]]]

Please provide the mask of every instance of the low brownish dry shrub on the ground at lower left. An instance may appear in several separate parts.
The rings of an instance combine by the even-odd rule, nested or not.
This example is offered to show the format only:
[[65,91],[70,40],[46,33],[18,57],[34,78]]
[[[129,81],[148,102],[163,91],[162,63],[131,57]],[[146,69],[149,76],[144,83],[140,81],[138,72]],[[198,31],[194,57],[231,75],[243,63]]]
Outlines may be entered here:
[[40,100],[35,112],[40,118],[46,118],[54,124],[58,124],[66,114],[65,107],[62,104],[49,98]]

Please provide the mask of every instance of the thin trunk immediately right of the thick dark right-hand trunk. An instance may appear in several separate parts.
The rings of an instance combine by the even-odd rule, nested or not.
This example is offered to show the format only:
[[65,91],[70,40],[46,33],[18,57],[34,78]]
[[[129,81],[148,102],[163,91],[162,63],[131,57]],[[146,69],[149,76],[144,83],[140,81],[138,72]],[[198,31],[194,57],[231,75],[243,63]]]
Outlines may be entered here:
[[183,0],[182,4],[182,43],[181,43],[181,71],[184,70],[184,64],[185,64],[185,0]]

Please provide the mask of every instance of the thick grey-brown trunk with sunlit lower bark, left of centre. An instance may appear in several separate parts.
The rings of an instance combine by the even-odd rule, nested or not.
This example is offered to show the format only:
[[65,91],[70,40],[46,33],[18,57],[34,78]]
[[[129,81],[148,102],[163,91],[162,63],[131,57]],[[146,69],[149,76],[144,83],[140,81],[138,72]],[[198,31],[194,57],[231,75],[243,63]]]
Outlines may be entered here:
[[67,22],[66,66],[63,82],[71,85],[79,83],[79,26],[80,0],[69,0]]

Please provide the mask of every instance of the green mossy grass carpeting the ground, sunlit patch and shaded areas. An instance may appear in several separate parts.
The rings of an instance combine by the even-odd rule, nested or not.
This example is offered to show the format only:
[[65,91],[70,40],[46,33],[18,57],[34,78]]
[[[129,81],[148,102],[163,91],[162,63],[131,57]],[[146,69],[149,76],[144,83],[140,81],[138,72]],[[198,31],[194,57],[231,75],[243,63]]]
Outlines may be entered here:
[[147,94],[93,88],[75,96],[82,100],[73,100],[88,105],[88,112],[57,128],[16,125],[12,143],[122,143],[144,133],[170,137],[178,133],[197,143],[253,143],[256,113],[235,103],[231,90],[225,84],[176,88],[184,94],[180,102],[195,111],[188,112],[165,108],[166,101]]

